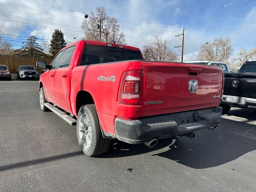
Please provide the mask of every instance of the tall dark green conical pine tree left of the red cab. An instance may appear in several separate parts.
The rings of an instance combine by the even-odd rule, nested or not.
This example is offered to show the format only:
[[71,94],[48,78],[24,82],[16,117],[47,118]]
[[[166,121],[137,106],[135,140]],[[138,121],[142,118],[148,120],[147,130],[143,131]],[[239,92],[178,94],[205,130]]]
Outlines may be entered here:
[[50,53],[52,54],[52,57],[54,57],[59,52],[59,50],[64,48],[66,44],[67,43],[64,40],[64,34],[61,32],[61,30],[54,29],[50,44]]

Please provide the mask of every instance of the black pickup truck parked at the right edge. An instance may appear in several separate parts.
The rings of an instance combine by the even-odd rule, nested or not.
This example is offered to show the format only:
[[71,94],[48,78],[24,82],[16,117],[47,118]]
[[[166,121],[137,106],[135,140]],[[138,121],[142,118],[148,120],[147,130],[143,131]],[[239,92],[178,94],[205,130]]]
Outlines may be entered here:
[[245,62],[237,73],[225,74],[220,106],[223,114],[232,106],[256,109],[256,61]]

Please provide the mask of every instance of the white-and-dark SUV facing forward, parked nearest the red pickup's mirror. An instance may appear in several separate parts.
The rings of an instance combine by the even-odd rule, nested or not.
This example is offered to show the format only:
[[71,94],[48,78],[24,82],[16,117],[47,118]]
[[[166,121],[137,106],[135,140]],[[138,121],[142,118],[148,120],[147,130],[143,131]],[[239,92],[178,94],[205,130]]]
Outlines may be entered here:
[[17,78],[19,80],[22,80],[22,79],[39,80],[39,73],[34,68],[34,66],[20,65],[19,68],[17,69]]

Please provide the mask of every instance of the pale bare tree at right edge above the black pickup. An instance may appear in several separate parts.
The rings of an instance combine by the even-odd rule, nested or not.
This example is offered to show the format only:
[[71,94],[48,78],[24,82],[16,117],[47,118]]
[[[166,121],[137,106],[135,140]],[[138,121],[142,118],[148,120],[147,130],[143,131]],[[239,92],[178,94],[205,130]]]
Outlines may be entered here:
[[249,52],[245,48],[241,47],[238,53],[232,57],[231,70],[239,70],[242,64],[246,61],[256,59],[256,47],[252,48]]

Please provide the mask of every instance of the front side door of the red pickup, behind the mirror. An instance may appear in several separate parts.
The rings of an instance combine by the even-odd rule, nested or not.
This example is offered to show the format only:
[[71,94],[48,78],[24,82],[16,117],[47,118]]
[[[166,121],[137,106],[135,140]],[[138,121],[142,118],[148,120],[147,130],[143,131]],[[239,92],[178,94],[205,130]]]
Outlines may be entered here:
[[47,101],[55,104],[55,95],[54,95],[54,76],[55,70],[60,65],[60,59],[62,57],[63,51],[59,52],[55,58],[52,60],[51,69],[45,72],[44,79],[44,92]]

